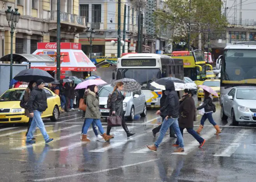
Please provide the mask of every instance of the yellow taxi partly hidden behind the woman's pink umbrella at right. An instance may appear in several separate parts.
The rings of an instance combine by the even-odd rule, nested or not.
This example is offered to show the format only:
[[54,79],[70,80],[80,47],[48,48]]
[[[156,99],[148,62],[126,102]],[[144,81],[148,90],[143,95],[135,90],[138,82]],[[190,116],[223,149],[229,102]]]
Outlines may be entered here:
[[[205,80],[202,85],[211,87],[220,96],[220,80],[216,80],[216,79],[212,78],[210,80]],[[213,98],[219,98],[219,96],[216,97],[215,95],[212,95]],[[197,98],[198,98],[198,100],[201,100],[201,98],[203,98],[203,97],[204,97],[204,90],[202,88],[199,88],[197,90]]]

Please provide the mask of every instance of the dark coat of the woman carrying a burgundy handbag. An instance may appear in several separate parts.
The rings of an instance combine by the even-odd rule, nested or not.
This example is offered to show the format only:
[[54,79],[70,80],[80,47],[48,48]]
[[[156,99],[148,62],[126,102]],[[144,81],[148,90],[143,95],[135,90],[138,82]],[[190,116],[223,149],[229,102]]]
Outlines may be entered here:
[[118,90],[115,90],[111,96],[111,108],[110,108],[110,116],[113,111],[117,116],[122,116],[124,119],[124,108],[123,108],[123,100],[125,96]]

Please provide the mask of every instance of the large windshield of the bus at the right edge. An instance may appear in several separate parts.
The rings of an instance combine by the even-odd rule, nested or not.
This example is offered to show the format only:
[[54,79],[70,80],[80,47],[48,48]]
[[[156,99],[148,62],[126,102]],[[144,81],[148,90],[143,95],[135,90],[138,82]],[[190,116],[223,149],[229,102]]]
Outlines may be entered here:
[[[229,49],[223,54],[222,83],[249,85],[256,83],[256,50]],[[255,79],[255,80],[249,80]]]

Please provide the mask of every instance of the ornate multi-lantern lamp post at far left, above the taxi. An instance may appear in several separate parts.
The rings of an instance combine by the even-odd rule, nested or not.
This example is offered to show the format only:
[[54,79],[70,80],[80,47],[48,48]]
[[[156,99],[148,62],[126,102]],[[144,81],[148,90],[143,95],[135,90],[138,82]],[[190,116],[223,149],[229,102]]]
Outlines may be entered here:
[[[10,27],[10,81],[12,80],[12,42],[13,42],[13,33],[16,27],[17,22],[19,22],[19,16],[21,15],[17,8],[15,11],[11,10],[11,6],[8,6],[8,9],[5,11],[6,19]],[[10,87],[11,88],[11,87]]]

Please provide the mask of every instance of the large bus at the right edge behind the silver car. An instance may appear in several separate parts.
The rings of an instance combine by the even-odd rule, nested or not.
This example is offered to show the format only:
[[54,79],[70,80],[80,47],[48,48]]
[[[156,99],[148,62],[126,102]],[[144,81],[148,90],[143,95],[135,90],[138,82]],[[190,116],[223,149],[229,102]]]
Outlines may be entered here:
[[223,96],[235,86],[256,86],[256,43],[239,42],[224,48],[216,61],[221,67],[220,104]]

